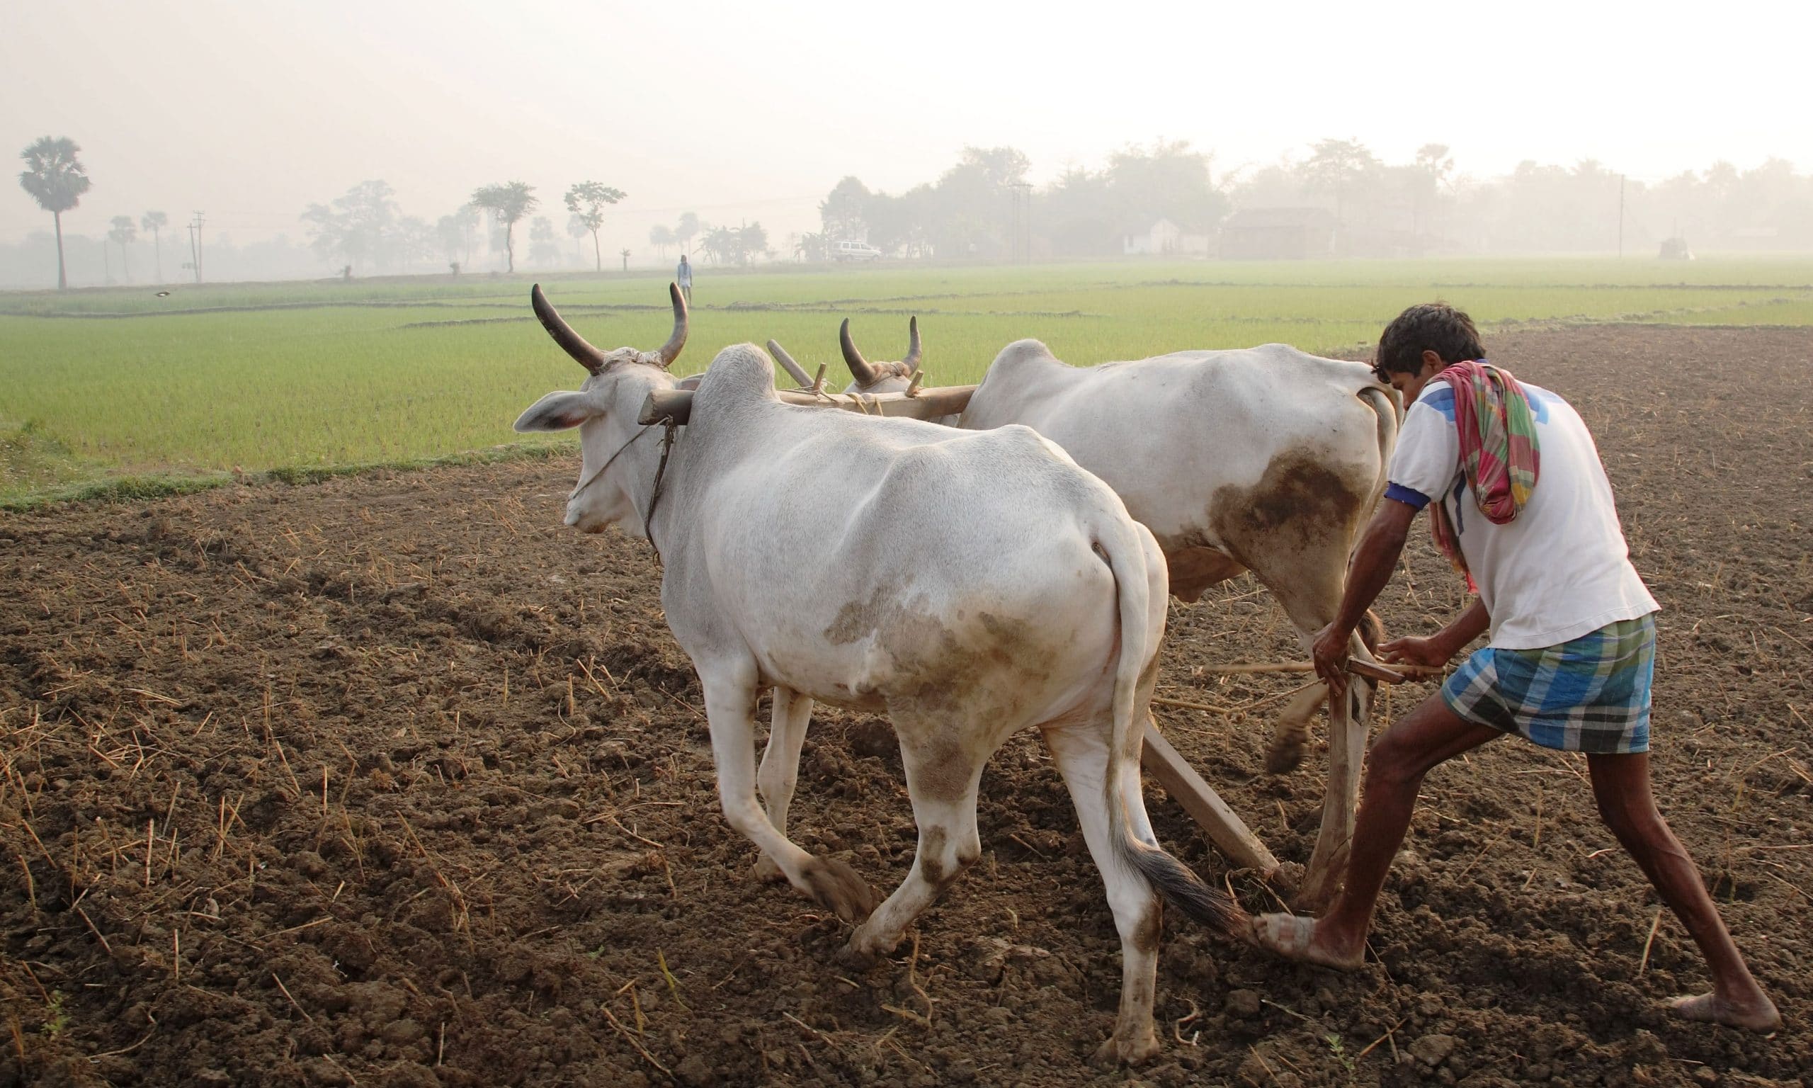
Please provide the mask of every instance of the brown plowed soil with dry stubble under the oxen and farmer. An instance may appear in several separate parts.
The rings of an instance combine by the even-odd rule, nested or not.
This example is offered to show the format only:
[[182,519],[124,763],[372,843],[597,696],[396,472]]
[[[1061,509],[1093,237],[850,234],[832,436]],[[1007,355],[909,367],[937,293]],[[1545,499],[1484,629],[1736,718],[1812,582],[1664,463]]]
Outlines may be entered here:
[[[1664,606],[1657,794],[1782,1006],[1775,1035],[1659,1010],[1708,985],[1697,952],[1583,763],[1521,742],[1430,776],[1354,974],[1171,916],[1144,1068],[1088,1063],[1119,945],[1035,736],[984,776],[983,860],[912,948],[850,976],[847,927],[754,883],[716,809],[647,546],[562,529],[577,464],[519,462],[0,520],[0,1083],[1798,1084],[1813,334],[1490,346],[1599,439]],[[1380,611],[1429,631],[1461,604],[1416,539]],[[1269,595],[1231,582],[1173,606],[1160,695],[1238,713],[1159,709],[1293,861],[1320,751],[1282,778],[1262,756],[1300,678],[1204,667],[1300,655]],[[1180,858],[1273,905],[1155,787],[1149,805]],[[881,720],[814,714],[792,827],[881,889],[905,874]]]

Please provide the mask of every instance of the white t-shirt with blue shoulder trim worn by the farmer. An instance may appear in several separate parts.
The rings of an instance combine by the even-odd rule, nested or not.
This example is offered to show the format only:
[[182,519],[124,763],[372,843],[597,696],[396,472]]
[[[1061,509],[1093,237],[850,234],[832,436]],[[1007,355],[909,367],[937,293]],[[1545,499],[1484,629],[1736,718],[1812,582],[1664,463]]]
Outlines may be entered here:
[[1445,381],[1430,381],[1405,413],[1385,488],[1387,499],[1418,510],[1445,504],[1499,649],[1557,646],[1659,607],[1630,566],[1612,482],[1586,424],[1556,393],[1521,384],[1541,466],[1516,519],[1492,524],[1467,493],[1454,388]]

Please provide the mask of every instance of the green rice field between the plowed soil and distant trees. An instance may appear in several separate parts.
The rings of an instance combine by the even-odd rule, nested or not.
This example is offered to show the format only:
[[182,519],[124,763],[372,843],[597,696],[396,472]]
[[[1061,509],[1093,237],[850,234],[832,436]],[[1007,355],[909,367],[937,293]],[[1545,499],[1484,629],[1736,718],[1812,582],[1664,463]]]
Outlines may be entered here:
[[[529,276],[0,294],[0,504],[513,455],[509,423],[580,370],[529,316]],[[665,279],[548,277],[604,348],[658,345]],[[917,314],[937,384],[977,381],[1033,335],[1088,364],[1285,341],[1352,350],[1432,297],[1514,323],[1813,325],[1813,257],[1104,263],[1053,267],[702,268],[676,372],[736,341],[780,339],[832,364],[838,323],[897,357]],[[1490,346],[1490,343],[1488,343]],[[847,379],[845,379],[847,381]],[[571,439],[564,439],[571,441]],[[477,452],[477,453],[475,453]],[[152,482],[147,482],[152,481]]]

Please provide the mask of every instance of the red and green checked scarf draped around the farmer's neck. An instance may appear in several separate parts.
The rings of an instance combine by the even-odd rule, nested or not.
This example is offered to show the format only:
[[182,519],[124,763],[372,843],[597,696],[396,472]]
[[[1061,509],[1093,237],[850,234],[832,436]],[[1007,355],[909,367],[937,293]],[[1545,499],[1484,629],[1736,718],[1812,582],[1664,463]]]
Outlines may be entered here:
[[[1530,399],[1508,370],[1485,359],[1454,363],[1436,374],[1436,379],[1454,388],[1454,426],[1461,439],[1461,471],[1467,490],[1492,524],[1507,524],[1517,517],[1536,490],[1541,470],[1541,452],[1536,448],[1536,417]],[[1432,504],[1430,531],[1436,548],[1449,557],[1454,569],[1467,575],[1467,588],[1478,589],[1467,559],[1461,555],[1459,535],[1449,520],[1447,506]]]

